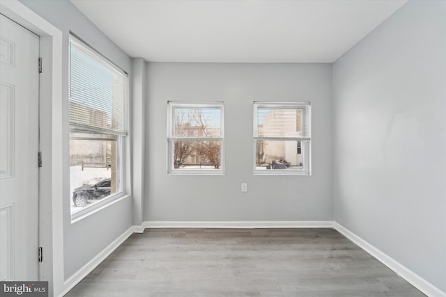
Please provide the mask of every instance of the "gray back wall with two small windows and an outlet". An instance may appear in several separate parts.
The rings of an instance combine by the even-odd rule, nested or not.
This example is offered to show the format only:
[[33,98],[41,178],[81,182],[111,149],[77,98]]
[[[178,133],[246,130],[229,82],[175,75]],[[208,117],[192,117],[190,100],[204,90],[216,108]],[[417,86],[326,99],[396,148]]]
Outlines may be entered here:
[[[144,220],[333,219],[332,65],[148,63],[147,87]],[[224,176],[167,175],[169,100],[224,102]],[[312,176],[252,174],[254,101],[312,102]]]

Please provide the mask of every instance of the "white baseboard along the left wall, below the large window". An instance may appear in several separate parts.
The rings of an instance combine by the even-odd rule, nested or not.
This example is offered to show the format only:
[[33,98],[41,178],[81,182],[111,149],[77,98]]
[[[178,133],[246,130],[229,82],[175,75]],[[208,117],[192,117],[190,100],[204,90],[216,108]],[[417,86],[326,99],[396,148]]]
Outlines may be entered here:
[[98,265],[105,260],[118,246],[121,246],[121,243],[128,239],[130,235],[133,234],[133,227],[130,227],[127,231],[125,231],[121,236],[115,239],[112,243],[107,246],[107,248],[103,249],[96,257],[91,259],[87,264],[85,264],[82,268],[80,268],[75,274],[73,274],[68,280],[66,280],[63,284],[63,293],[61,296],[65,295],[75,287],[83,278],[86,277],[94,268],[98,267]]

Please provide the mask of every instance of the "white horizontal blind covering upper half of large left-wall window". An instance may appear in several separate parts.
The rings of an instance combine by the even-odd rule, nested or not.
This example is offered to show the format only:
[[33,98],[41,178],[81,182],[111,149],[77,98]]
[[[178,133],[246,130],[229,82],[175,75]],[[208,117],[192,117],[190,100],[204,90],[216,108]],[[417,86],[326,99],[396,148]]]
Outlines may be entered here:
[[125,73],[72,35],[68,72],[70,126],[125,135]]

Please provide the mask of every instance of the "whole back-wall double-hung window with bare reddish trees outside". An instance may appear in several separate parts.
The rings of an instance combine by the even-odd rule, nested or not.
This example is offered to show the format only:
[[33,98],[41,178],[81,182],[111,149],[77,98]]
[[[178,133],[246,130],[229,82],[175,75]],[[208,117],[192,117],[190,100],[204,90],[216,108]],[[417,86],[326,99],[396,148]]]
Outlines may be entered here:
[[223,103],[169,102],[167,142],[169,173],[222,174]]

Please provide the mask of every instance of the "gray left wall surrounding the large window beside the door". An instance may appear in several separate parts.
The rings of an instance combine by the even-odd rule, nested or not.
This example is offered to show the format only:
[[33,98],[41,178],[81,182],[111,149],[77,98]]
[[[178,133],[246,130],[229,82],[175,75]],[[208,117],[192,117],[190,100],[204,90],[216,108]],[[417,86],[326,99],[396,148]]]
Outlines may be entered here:
[[131,60],[125,52],[118,48],[103,33],[99,31],[70,1],[60,0],[24,0],[24,5],[31,8],[48,22],[63,32],[63,118],[66,127],[64,139],[54,139],[64,143],[63,154],[66,163],[61,164],[67,175],[63,177],[66,197],[63,197],[63,234],[64,234],[64,266],[65,279],[82,268],[93,257],[98,255],[118,236],[132,225],[132,201],[127,198],[112,206],[92,214],[88,218],[72,224],[70,220],[70,177],[68,154],[68,33],[72,31],[79,38],[109,58],[126,72],[130,73]]

